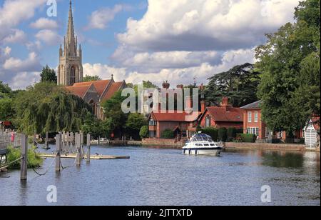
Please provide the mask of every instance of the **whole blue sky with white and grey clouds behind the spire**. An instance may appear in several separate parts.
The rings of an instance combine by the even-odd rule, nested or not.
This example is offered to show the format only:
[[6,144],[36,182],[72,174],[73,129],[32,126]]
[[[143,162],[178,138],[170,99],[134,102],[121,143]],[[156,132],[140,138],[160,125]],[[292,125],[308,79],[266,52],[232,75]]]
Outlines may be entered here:
[[[68,0],[0,0],[0,81],[24,89],[56,69]],[[52,1],[52,0],[50,0]],[[50,2],[49,1],[49,2]],[[254,62],[265,34],[293,21],[299,0],[73,0],[84,74],[136,83],[198,84]]]

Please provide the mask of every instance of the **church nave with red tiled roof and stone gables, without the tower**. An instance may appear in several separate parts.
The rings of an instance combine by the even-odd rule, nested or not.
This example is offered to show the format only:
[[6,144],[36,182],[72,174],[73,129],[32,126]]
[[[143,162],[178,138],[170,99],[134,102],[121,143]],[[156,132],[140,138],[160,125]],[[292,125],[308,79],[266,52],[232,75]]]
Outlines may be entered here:
[[93,114],[98,119],[103,119],[101,104],[111,99],[117,91],[124,88],[126,88],[126,82],[116,82],[113,80],[112,75],[110,80],[79,82],[73,84],[73,86],[67,86],[66,90],[90,104],[93,108]]

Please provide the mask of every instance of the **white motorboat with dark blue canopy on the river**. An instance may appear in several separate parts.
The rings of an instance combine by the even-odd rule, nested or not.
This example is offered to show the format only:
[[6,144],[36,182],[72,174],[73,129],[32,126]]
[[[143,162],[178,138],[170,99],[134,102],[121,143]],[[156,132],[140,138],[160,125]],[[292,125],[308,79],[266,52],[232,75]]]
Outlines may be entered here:
[[223,146],[215,143],[213,139],[207,134],[199,132],[190,138],[183,147],[183,154],[194,155],[220,155],[223,150]]

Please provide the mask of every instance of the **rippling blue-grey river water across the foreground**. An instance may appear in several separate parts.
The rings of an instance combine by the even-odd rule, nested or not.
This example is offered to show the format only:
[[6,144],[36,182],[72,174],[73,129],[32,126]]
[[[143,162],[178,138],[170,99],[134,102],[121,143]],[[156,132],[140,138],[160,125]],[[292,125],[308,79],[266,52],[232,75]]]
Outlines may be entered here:
[[[0,205],[320,205],[320,154],[312,152],[229,150],[215,157],[93,146],[91,153],[131,159],[83,161],[40,177],[29,170],[25,184],[11,171],[0,178]],[[62,164],[72,166],[73,159]],[[46,200],[49,185],[57,188],[56,204]],[[270,186],[270,203],[261,201],[262,186]]]

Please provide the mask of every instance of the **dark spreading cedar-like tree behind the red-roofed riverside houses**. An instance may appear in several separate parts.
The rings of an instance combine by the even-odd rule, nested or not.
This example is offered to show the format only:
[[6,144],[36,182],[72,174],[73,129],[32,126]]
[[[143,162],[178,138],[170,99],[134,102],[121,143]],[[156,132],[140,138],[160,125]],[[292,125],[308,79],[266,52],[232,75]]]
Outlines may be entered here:
[[257,101],[260,73],[253,64],[234,66],[229,71],[211,77],[205,89],[205,99],[219,104],[223,96],[229,97],[233,106],[244,106]]

